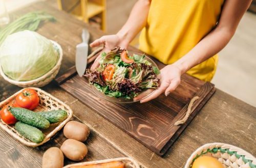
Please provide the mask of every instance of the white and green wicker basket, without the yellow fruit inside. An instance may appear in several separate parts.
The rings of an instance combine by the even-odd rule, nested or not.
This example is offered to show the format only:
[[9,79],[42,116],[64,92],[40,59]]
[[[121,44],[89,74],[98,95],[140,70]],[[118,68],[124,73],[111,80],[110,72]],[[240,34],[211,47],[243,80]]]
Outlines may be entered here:
[[185,168],[191,167],[194,160],[203,155],[217,158],[224,167],[228,168],[256,167],[255,157],[245,150],[228,144],[212,143],[205,144],[191,154],[185,164]]

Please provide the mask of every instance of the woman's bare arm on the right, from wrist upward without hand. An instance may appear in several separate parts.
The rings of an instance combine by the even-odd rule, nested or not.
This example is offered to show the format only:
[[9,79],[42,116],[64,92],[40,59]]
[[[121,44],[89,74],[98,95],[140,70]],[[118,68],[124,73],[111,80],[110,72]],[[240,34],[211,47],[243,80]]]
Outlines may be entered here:
[[226,0],[218,25],[174,65],[185,73],[220,52],[236,32],[251,0]]

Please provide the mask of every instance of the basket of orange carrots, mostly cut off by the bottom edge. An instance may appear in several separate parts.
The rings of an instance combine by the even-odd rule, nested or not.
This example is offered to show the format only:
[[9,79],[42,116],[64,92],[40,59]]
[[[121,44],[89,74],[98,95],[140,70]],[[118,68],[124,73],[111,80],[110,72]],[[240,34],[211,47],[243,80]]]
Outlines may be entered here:
[[97,161],[87,161],[82,163],[75,163],[66,165],[63,168],[104,168],[104,167],[112,167],[112,168],[139,168],[139,164],[129,158],[129,157],[120,157],[114,159],[105,159],[105,160],[97,160]]

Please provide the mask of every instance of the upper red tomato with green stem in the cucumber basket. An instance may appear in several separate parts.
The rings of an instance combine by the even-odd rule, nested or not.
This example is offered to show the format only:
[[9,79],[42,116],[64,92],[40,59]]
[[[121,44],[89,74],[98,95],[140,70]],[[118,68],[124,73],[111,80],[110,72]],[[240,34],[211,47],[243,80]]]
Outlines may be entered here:
[[24,89],[16,96],[16,104],[19,107],[34,109],[39,104],[39,97],[35,90],[33,89]]

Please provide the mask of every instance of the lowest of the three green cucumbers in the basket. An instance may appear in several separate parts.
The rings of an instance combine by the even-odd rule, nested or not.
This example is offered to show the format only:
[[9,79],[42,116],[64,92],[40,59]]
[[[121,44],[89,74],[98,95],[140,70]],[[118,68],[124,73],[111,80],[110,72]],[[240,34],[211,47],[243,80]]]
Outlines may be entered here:
[[45,134],[42,133],[42,131],[40,131],[36,127],[30,126],[19,121],[15,124],[15,129],[18,131],[18,133],[20,133],[21,135],[23,135],[24,137],[26,137],[27,139],[34,143],[39,144],[42,141],[44,141]]

